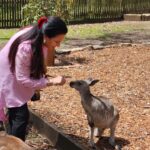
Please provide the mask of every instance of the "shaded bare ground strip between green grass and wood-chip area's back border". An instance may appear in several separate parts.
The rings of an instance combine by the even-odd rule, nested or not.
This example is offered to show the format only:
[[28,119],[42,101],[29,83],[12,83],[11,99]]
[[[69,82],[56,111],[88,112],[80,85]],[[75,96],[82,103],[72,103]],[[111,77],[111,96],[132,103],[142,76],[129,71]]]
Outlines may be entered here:
[[84,47],[87,45],[110,45],[119,43],[140,43],[140,44],[150,44],[150,30],[139,30],[126,33],[111,33],[107,34],[105,37],[99,37],[94,39],[77,39],[68,38],[62,44],[62,48],[74,48],[74,47]]

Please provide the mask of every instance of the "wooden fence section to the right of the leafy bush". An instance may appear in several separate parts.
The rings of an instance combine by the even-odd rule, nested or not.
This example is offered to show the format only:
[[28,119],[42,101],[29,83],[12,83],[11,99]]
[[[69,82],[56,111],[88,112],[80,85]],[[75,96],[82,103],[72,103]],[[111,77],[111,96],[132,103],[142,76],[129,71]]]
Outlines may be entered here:
[[73,0],[71,22],[111,21],[125,13],[150,13],[150,0]]

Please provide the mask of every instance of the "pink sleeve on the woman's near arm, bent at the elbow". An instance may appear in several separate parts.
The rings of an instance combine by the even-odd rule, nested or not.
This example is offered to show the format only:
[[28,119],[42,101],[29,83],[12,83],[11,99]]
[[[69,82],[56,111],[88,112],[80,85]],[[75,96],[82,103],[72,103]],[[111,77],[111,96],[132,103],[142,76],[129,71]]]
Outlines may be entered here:
[[32,49],[30,43],[23,42],[18,46],[18,51],[15,60],[15,74],[19,83],[25,87],[33,89],[41,89],[47,86],[48,80],[46,78],[31,79],[30,65],[31,65]]

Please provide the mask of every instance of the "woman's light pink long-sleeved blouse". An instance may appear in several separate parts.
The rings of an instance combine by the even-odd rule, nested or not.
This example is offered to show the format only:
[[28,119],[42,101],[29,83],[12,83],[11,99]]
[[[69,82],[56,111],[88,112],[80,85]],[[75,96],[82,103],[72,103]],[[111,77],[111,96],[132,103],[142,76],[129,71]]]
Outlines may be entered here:
[[[13,41],[30,28],[17,32],[0,51],[0,120],[4,121],[3,109],[20,107],[31,99],[36,89],[46,87],[47,79],[34,80],[30,78],[30,63],[32,57],[31,42],[25,41],[18,47],[16,54],[15,73],[10,71],[8,53]],[[46,57],[47,48],[43,46]]]

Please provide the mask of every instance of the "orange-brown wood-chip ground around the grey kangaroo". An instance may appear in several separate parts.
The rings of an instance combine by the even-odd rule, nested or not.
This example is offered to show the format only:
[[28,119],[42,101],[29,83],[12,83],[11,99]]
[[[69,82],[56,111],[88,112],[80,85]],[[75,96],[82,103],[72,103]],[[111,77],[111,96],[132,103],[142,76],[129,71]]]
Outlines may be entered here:
[[[112,46],[103,50],[84,50],[62,55],[68,66],[48,69],[49,75],[65,75],[64,86],[52,86],[41,92],[41,100],[30,107],[49,123],[89,149],[88,125],[79,94],[69,87],[75,79],[92,77],[100,82],[91,87],[94,95],[108,97],[118,107],[120,120],[116,143],[123,150],[149,150],[150,147],[150,46]],[[67,64],[67,63],[66,63]],[[72,64],[72,65],[70,65]],[[95,139],[101,150],[113,150],[108,131]]]

